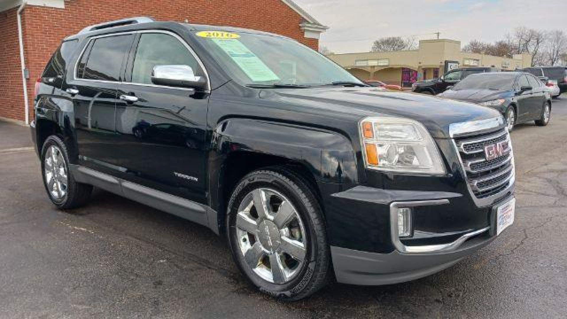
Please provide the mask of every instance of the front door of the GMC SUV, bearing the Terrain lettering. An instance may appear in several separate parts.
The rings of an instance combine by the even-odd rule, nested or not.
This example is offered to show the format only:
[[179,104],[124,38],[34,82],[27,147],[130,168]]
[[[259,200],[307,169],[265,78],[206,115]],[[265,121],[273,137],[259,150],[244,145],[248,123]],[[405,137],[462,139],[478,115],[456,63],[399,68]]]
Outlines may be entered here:
[[119,86],[116,160],[124,178],[206,203],[205,132],[208,94],[154,85],[156,65],[188,65],[204,75],[185,42],[169,32],[139,33]]

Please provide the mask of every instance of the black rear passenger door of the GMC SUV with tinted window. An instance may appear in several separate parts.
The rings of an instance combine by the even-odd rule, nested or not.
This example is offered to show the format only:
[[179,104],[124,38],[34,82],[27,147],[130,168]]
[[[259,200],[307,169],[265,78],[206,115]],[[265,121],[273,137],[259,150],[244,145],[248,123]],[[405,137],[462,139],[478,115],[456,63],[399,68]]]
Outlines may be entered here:
[[79,163],[113,175],[117,89],[133,40],[133,34],[92,37],[62,87],[73,100]]

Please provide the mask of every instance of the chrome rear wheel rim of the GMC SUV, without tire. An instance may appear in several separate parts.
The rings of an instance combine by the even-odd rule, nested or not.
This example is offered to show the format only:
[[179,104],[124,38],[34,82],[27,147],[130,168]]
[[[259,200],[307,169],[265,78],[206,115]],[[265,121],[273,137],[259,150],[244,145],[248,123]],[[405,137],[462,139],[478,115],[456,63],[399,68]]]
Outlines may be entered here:
[[44,159],[45,184],[54,200],[61,200],[67,194],[67,169],[65,159],[57,146],[51,145]]

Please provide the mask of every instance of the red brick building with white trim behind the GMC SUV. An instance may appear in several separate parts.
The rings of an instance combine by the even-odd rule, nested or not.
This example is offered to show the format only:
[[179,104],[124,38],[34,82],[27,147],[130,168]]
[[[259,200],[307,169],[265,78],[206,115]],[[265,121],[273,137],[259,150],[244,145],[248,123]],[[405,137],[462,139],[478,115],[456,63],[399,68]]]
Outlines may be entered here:
[[130,16],[268,31],[314,49],[327,29],[291,0],[0,0],[0,118],[31,121],[35,79],[64,37]]

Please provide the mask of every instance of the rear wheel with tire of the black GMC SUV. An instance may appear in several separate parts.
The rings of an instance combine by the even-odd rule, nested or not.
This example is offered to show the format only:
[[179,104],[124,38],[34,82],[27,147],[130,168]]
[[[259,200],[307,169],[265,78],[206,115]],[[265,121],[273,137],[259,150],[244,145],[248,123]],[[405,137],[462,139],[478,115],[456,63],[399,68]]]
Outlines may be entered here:
[[91,196],[92,186],[78,183],[69,170],[69,154],[58,136],[49,136],[41,149],[41,172],[49,199],[60,209],[83,205]]

